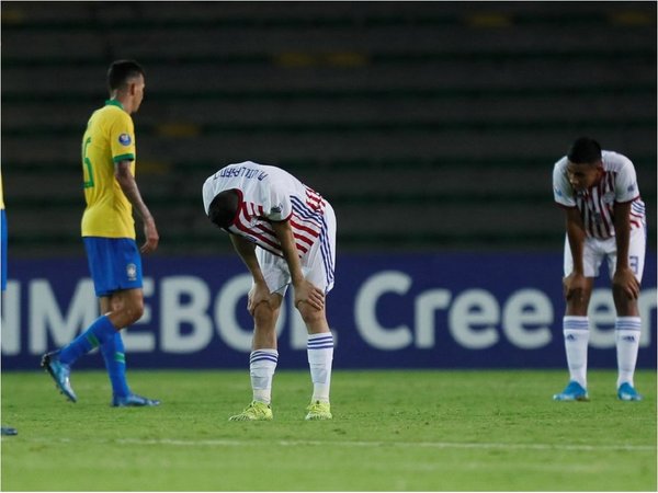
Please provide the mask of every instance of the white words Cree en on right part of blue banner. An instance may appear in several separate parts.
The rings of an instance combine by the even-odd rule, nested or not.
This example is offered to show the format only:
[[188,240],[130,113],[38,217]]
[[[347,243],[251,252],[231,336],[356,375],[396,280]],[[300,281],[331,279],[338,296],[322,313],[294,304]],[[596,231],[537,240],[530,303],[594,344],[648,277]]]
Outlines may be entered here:
[[[545,293],[533,288],[523,288],[510,296],[503,305],[502,320],[498,300],[485,289],[466,289],[455,297],[452,306],[450,290],[429,289],[416,297],[415,335],[409,325],[385,328],[376,314],[379,298],[390,293],[406,295],[410,287],[411,277],[397,271],[373,274],[361,286],[356,294],[354,319],[359,333],[373,347],[397,351],[411,343],[419,348],[434,347],[436,310],[447,310],[447,329],[451,335],[468,349],[494,346],[500,340],[500,331],[510,343],[523,349],[541,348],[553,340],[553,303]],[[651,339],[651,312],[657,307],[656,289],[643,290],[638,305],[643,324],[640,347],[648,347]],[[592,347],[614,347],[614,331],[600,328],[614,326],[614,303],[610,289],[595,289],[592,293],[589,317]]]

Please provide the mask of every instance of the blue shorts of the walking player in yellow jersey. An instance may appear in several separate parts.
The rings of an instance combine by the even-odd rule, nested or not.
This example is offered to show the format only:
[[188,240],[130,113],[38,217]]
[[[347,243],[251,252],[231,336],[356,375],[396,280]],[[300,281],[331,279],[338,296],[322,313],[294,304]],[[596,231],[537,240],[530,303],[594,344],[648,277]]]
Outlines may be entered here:
[[141,256],[132,238],[84,237],[97,297],[141,288]]

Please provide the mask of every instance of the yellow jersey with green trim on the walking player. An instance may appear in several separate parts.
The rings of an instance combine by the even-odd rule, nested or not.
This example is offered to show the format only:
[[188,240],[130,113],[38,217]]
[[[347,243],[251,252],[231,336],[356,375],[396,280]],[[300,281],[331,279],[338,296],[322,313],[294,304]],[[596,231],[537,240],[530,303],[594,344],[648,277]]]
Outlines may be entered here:
[[133,118],[118,101],[106,101],[91,115],[82,137],[83,237],[135,239],[133,206],[114,177],[114,163],[125,160],[133,161],[134,176],[135,158]]

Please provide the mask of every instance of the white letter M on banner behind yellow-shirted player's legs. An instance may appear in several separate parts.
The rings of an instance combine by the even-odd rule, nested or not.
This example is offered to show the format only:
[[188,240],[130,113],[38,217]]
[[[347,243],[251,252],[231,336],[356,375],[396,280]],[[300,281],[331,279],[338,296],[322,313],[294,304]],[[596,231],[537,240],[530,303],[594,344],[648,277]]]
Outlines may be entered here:
[[34,279],[30,283],[30,300],[29,347],[32,354],[48,351],[48,333],[53,336],[53,344],[59,347],[72,341],[78,332],[98,317],[93,283],[88,278],[78,282],[66,316],[59,311],[47,279]]

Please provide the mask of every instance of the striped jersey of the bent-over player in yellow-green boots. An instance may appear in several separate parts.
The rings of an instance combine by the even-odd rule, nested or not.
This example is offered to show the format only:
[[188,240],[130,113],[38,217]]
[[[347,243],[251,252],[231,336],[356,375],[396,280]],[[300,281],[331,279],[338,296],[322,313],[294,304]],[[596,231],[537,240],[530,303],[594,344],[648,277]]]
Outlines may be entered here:
[[304,256],[317,241],[326,238],[325,199],[288,172],[245,161],[229,164],[205,181],[203,205],[208,214],[213,199],[236,188],[240,206],[229,232],[283,256],[281,243],[270,221],[290,220],[297,252]]

